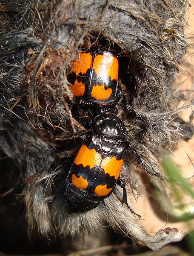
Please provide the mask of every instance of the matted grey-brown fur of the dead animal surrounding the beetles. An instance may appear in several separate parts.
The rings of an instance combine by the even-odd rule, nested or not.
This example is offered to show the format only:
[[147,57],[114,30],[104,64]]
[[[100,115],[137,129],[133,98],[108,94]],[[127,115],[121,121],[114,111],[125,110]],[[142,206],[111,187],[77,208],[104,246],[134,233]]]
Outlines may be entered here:
[[[106,221],[153,250],[183,238],[176,228],[154,236],[145,232],[137,216],[115,195],[122,193],[118,188],[96,209],[68,215],[63,195],[71,166],[67,157],[75,156],[84,138],[68,144],[61,138],[84,129],[71,115],[73,94],[66,79],[71,62],[84,43],[90,47],[106,38],[119,47],[129,67],[121,65],[125,74],[120,85],[132,112],[120,108],[120,117],[128,135],[137,141],[144,165],[154,165],[151,173],[163,178],[148,149],[162,151],[181,136],[191,138],[193,131],[178,117],[182,109],[172,111],[171,106],[174,73],[187,47],[183,32],[187,4],[185,0],[1,1],[0,144],[3,157],[14,159],[9,178],[4,177],[14,182],[3,194],[18,188],[30,228],[38,227],[46,236],[76,235],[97,230]],[[133,208],[131,189],[138,185],[131,174],[136,165],[129,165],[131,159],[132,154],[126,154],[127,167],[121,176],[130,188],[128,202]]]

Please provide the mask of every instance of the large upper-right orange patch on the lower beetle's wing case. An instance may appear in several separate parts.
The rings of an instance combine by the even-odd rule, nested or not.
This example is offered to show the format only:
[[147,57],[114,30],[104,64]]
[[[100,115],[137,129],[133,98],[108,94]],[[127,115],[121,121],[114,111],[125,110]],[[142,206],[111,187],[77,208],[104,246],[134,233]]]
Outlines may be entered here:
[[123,159],[117,160],[115,156],[103,159],[102,168],[106,174],[114,176],[114,179],[118,179],[121,168],[123,166]]

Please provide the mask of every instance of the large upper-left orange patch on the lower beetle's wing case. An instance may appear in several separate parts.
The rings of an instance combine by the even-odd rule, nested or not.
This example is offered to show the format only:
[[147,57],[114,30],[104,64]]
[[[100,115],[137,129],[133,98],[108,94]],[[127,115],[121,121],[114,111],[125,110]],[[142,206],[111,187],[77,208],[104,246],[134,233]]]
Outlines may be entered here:
[[98,154],[94,148],[88,149],[86,145],[82,145],[80,147],[80,150],[74,160],[74,164],[83,165],[84,168],[89,166],[90,169],[94,168],[95,165],[100,165],[100,163],[100,154]]

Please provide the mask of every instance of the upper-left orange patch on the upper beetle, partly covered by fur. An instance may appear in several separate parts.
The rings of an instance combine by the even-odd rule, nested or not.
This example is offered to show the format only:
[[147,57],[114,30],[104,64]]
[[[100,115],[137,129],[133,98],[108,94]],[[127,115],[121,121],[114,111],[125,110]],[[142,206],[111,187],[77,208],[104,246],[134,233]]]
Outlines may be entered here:
[[91,53],[80,53],[80,60],[74,60],[72,63],[72,71],[75,72],[75,74],[86,74],[86,71],[91,68],[93,57],[91,56]]

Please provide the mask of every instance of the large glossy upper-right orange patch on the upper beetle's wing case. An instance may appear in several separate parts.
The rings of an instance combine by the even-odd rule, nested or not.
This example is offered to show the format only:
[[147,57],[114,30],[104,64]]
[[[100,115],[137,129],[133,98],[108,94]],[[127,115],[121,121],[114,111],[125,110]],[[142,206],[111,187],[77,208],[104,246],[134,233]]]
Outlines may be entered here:
[[103,81],[106,81],[107,77],[111,77],[111,80],[118,81],[119,62],[117,57],[111,53],[104,53],[97,55],[94,58],[93,69],[97,76],[101,77]]

